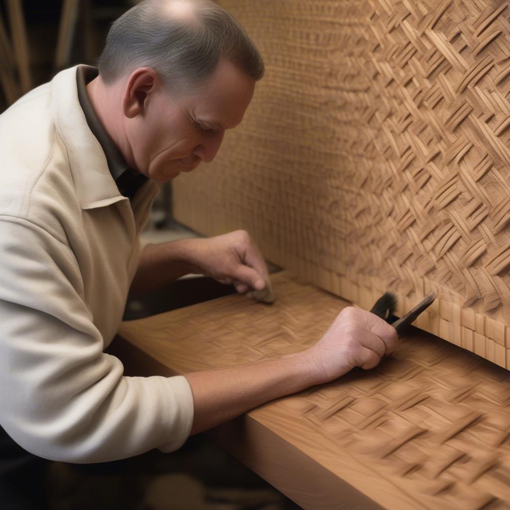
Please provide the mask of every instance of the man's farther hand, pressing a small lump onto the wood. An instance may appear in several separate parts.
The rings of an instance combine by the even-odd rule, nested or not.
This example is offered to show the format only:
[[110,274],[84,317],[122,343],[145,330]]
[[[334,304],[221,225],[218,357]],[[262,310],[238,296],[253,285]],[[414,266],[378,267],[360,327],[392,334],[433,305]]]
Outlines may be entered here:
[[245,230],[205,239],[187,239],[187,263],[193,273],[205,274],[237,292],[262,290],[269,279],[260,250]]

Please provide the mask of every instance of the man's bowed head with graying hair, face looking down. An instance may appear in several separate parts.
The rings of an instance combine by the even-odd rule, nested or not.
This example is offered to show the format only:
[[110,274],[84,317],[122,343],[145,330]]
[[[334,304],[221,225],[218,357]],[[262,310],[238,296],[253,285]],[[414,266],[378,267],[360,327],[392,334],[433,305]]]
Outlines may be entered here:
[[127,162],[157,182],[215,157],[264,73],[242,27],[210,0],[141,2],[113,23],[98,68],[94,106]]

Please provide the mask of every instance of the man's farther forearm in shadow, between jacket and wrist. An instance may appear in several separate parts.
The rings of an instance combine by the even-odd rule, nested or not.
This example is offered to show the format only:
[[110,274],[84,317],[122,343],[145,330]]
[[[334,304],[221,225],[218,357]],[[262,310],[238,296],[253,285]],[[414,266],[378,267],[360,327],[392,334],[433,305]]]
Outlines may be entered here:
[[130,296],[163,288],[188,274],[188,239],[149,244],[142,251],[138,269],[130,288]]

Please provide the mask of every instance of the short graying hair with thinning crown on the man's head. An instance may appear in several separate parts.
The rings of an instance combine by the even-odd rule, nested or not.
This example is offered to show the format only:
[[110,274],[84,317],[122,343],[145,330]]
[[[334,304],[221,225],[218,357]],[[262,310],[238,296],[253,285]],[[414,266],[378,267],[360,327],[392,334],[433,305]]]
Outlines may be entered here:
[[220,58],[255,81],[262,78],[259,50],[222,7],[211,0],[187,0],[194,18],[190,22],[164,13],[165,5],[171,3],[145,0],[113,22],[97,61],[106,84],[147,66],[168,89],[194,87],[213,73]]

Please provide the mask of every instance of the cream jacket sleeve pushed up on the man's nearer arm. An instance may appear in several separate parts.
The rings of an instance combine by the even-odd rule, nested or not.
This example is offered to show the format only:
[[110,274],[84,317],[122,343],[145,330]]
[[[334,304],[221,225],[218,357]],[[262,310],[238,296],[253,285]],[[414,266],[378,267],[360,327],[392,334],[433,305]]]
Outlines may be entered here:
[[107,462],[188,438],[187,379],[125,377],[83,300],[71,249],[43,228],[0,218],[0,424],[50,460]]

